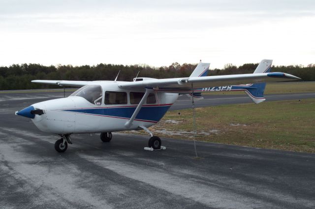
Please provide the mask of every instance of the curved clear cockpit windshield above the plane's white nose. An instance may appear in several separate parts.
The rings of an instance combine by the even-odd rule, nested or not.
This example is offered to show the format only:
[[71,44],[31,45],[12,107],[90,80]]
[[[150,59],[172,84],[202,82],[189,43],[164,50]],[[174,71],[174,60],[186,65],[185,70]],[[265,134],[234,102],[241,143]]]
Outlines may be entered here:
[[83,97],[92,104],[100,105],[102,103],[102,87],[100,85],[86,85],[73,92],[71,96]]

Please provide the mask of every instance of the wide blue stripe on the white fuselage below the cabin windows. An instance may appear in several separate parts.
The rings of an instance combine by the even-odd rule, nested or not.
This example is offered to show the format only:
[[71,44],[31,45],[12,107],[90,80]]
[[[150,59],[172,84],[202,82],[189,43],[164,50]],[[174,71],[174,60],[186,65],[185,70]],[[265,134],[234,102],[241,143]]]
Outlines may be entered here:
[[[155,121],[158,122],[167,112],[171,105],[161,106],[143,106],[135,120]],[[104,108],[82,108],[82,109],[64,109],[63,111],[78,112],[85,114],[127,118],[129,119],[136,106],[130,107],[104,107]]]

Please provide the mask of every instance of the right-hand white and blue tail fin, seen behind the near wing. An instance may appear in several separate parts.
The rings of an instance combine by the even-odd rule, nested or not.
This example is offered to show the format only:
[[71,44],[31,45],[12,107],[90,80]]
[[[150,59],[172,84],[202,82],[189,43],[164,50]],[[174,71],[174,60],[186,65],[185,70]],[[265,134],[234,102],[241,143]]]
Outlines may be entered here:
[[[271,65],[271,59],[263,59],[253,73],[270,73]],[[254,83],[240,86],[242,86],[245,93],[252,99],[254,103],[258,104],[266,100],[264,98],[266,83]]]

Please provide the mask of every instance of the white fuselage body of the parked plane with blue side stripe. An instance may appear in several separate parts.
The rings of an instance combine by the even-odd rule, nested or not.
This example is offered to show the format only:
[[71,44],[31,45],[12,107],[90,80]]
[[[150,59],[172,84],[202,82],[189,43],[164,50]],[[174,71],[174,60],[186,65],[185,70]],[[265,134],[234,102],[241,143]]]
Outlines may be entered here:
[[[32,104],[34,109],[42,109],[45,112],[41,115],[35,114],[32,122],[39,130],[56,134],[138,130],[140,126],[148,128],[156,124],[179,96],[177,93],[152,90],[150,101],[147,100],[141,107],[133,123],[126,126],[125,123],[139,103],[134,95],[141,96],[144,91],[122,90],[116,82],[94,85],[99,85],[102,89],[101,99],[97,103],[93,104],[81,96],[70,95]],[[110,99],[109,93],[113,97],[125,95],[126,98],[110,102],[107,101]]]

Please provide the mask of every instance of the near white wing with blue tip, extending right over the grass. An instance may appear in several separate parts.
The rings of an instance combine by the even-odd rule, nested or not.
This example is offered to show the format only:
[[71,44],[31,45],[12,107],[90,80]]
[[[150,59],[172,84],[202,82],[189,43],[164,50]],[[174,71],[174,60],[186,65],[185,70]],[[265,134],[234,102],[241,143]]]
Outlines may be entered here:
[[205,88],[209,86],[227,86],[247,83],[278,82],[301,79],[286,73],[256,73],[226,76],[206,76],[190,78],[150,79],[134,82],[122,82],[123,89],[153,88],[159,91],[180,92],[187,89]]

